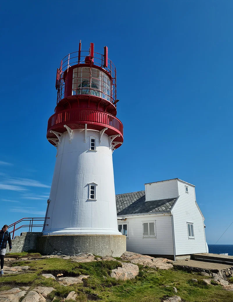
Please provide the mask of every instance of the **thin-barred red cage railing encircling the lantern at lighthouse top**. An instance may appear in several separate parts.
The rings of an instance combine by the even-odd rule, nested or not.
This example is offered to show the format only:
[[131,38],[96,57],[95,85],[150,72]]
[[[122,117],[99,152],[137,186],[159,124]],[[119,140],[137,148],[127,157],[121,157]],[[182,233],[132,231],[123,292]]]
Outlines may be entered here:
[[[73,53],[69,53],[69,55],[65,56],[61,63],[60,67],[57,70],[57,78],[56,78],[56,89],[57,92],[57,103],[61,101],[63,98],[65,98],[65,80],[64,80],[64,72],[68,72],[69,68],[71,68],[74,65],[83,66],[85,64],[85,58],[90,55],[90,51],[82,50],[82,51],[75,51]],[[113,62],[107,58],[107,66],[106,66],[106,56],[101,53],[94,52],[93,62],[91,63],[91,66],[93,68],[95,66],[103,69],[103,71],[110,76],[111,79],[111,95],[107,97],[108,101],[116,105],[117,101],[117,81],[116,81],[116,67],[113,64]],[[90,65],[88,65],[90,66]],[[90,70],[91,72],[91,70]],[[104,79],[102,77],[101,79],[101,85],[105,85]],[[93,90],[93,94],[96,95],[96,88],[91,87],[92,83],[90,82],[90,86],[88,86],[89,90]],[[92,95],[92,93],[90,93]]]

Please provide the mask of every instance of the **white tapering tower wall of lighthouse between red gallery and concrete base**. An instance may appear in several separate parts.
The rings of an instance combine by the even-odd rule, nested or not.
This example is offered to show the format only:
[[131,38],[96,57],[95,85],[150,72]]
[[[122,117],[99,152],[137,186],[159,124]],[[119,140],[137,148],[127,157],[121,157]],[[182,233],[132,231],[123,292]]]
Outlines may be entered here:
[[[90,150],[95,137],[96,150]],[[89,198],[89,184],[96,188],[96,200]],[[73,130],[63,133],[56,157],[43,235],[106,234],[121,235],[113,176],[112,149],[104,133]]]

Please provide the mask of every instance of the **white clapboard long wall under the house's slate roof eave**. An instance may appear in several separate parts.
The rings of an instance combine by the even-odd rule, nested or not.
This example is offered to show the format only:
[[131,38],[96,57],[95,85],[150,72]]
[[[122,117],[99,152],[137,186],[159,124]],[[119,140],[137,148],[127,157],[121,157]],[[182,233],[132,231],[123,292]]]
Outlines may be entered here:
[[[156,221],[156,238],[143,238],[142,222]],[[129,239],[126,250],[139,254],[174,255],[171,215],[145,215],[130,217],[118,224],[128,223]]]

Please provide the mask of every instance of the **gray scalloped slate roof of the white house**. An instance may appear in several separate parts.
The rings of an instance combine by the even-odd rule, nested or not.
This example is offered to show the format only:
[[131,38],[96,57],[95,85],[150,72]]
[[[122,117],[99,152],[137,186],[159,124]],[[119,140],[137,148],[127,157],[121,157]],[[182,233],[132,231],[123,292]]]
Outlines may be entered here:
[[116,195],[117,216],[170,212],[176,198],[145,201],[145,191]]

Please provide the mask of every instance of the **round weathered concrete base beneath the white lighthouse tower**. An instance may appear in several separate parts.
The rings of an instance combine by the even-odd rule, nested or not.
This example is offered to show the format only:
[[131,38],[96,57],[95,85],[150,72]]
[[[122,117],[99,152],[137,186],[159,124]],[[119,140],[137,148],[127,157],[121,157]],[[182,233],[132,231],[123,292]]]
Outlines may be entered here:
[[123,235],[49,235],[37,237],[37,251],[42,255],[78,255],[120,257],[126,252]]

